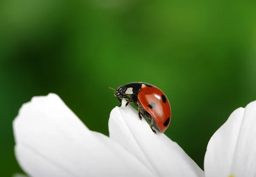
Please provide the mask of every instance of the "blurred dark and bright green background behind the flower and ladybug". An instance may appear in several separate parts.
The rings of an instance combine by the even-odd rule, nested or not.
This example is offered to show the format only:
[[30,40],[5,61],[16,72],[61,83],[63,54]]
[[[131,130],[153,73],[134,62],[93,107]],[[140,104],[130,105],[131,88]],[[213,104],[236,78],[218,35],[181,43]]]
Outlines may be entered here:
[[143,81],[172,106],[166,135],[203,169],[207,143],[256,100],[255,1],[0,2],[0,176],[22,172],[12,121],[32,96],[57,93],[108,135],[108,87]]

